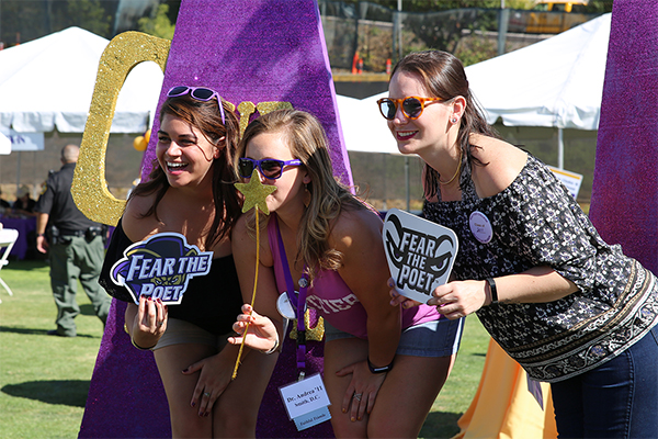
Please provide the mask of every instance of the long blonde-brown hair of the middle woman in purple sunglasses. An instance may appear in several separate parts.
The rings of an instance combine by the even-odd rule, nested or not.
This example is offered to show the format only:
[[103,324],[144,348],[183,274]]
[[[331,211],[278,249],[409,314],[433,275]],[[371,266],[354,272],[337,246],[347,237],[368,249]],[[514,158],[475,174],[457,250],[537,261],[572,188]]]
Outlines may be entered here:
[[[238,157],[245,157],[247,144],[264,133],[282,133],[291,153],[303,162],[310,177],[310,183],[306,185],[310,203],[299,222],[296,257],[306,263],[313,281],[318,267],[337,270],[342,266],[341,252],[330,248],[328,243],[332,221],[342,209],[366,207],[333,177],[327,135],[314,115],[286,109],[260,116],[247,126],[238,145]],[[251,221],[250,224],[253,225]]]

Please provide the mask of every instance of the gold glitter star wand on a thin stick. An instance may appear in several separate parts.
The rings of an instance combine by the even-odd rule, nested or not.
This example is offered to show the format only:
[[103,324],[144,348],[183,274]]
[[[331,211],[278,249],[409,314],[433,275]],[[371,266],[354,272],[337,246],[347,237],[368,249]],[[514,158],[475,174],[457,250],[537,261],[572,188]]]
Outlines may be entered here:
[[[258,224],[258,211],[259,209],[263,211],[265,215],[270,214],[270,210],[268,209],[268,203],[265,203],[265,199],[272,192],[276,190],[273,185],[264,185],[258,173],[254,169],[251,173],[251,178],[248,183],[235,183],[236,189],[245,195],[245,203],[242,204],[242,213],[249,212],[251,209],[254,210],[256,215],[256,279],[253,280],[253,293],[251,294],[251,309],[253,309],[253,304],[256,302],[256,288],[258,284],[258,266],[260,264],[260,226]],[[247,331],[249,330],[249,322],[247,322],[247,326],[245,327],[245,335],[242,337],[242,342],[240,344],[240,350],[238,351],[238,358],[236,359],[236,367],[234,368],[231,381],[236,379],[238,375],[238,368],[240,367],[240,358],[242,357],[242,349],[245,348],[245,340],[247,339]]]

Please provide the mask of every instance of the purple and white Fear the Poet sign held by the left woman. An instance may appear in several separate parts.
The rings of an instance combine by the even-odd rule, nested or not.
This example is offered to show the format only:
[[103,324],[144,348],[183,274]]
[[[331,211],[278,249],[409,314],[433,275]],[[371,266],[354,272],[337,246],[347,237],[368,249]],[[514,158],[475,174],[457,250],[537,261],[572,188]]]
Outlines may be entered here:
[[112,281],[125,286],[136,304],[146,295],[179,305],[190,279],[207,274],[212,263],[212,251],[188,245],[181,234],[161,233],[126,248],[111,273]]

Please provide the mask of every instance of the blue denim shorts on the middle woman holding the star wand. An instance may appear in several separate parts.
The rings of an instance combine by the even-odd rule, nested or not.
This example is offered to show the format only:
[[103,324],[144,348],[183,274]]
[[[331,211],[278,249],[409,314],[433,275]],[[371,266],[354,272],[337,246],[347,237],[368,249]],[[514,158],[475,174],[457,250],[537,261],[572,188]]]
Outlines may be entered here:
[[[460,350],[460,341],[464,331],[464,318],[450,320],[441,317],[438,320],[409,326],[402,330],[396,354],[413,357],[450,357]],[[325,319],[325,341],[356,338],[336,329]]]

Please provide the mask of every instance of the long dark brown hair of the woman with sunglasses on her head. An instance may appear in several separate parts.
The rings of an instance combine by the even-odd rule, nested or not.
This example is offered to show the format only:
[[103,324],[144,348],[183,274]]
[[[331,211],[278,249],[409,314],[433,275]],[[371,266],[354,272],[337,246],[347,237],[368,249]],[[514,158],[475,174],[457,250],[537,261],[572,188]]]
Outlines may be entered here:
[[[160,123],[166,114],[179,117],[196,127],[203,136],[213,145],[219,147],[219,157],[213,160],[213,199],[215,201],[215,218],[205,238],[205,248],[209,249],[214,244],[228,236],[230,229],[240,214],[240,200],[234,187],[236,181],[232,171],[234,157],[238,145],[239,125],[238,119],[228,103],[222,101],[225,113],[225,123],[222,122],[222,113],[217,101],[197,101],[190,95],[168,98],[160,109]],[[223,139],[224,137],[224,139]],[[144,217],[155,215],[158,218],[158,204],[169,189],[169,182],[162,168],[155,160],[154,169],[149,180],[138,184],[131,193],[135,196],[156,194],[156,200]]]

